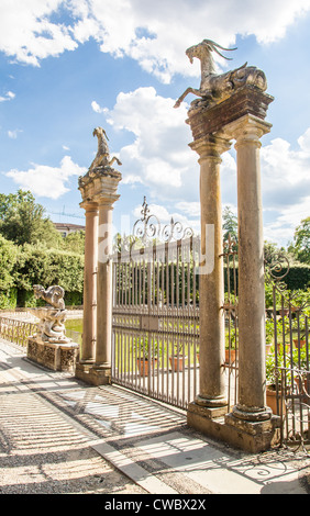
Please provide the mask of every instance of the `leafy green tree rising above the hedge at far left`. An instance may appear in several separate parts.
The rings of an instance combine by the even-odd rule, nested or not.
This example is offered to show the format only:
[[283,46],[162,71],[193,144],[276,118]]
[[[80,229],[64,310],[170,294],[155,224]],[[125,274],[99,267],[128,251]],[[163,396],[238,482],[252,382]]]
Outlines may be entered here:
[[1,193],[0,233],[18,245],[41,242],[47,247],[60,247],[62,237],[44,212],[30,191],[20,189],[18,193]]

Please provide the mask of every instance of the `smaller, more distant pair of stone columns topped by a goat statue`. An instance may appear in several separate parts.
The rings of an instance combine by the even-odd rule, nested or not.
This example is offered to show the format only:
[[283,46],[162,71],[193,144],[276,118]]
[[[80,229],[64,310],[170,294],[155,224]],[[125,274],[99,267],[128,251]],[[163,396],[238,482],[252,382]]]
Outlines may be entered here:
[[79,178],[86,210],[86,245],[84,277],[84,336],[76,377],[95,385],[111,379],[112,338],[112,210],[119,199],[122,175],[112,168],[121,161],[111,157],[107,134],[96,127],[98,153],[88,172]]

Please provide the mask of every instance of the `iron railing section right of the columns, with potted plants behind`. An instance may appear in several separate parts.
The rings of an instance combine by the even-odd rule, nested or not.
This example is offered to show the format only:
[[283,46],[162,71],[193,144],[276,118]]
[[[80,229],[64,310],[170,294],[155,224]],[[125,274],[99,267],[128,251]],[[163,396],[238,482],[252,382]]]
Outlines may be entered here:
[[284,282],[289,261],[266,256],[267,404],[281,419],[280,442],[310,445],[309,293],[289,291]]

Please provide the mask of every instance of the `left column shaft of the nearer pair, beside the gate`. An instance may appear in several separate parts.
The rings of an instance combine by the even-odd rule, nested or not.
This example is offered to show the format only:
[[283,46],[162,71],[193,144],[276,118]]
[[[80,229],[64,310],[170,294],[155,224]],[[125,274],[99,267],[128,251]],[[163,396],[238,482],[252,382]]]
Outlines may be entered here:
[[201,263],[199,285],[200,311],[200,392],[196,404],[222,407],[228,404],[223,368],[224,278],[220,155],[230,142],[206,135],[192,144],[200,158]]

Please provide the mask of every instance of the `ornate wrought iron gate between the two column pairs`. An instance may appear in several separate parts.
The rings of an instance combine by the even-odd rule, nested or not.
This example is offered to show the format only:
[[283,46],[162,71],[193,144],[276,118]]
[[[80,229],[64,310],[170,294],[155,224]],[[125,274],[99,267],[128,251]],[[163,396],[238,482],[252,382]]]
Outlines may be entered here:
[[113,256],[112,381],[186,408],[198,389],[199,242],[144,200],[126,249]]

